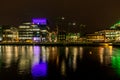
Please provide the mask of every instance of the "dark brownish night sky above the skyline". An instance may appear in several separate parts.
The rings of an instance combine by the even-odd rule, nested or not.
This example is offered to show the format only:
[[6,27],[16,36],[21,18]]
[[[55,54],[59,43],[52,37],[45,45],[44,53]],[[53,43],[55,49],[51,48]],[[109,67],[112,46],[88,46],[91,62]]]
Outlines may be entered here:
[[[50,23],[64,16],[86,25],[94,32],[120,20],[120,0],[3,0],[0,2],[0,24],[21,24],[33,17],[46,17]],[[53,26],[51,26],[53,27]]]

